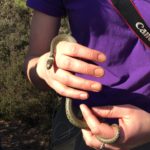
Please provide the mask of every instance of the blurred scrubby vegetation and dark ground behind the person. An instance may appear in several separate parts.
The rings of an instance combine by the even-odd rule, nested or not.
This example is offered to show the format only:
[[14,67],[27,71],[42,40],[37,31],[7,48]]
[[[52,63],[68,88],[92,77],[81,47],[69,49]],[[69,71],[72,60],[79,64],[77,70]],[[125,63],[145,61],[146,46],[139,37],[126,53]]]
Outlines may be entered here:
[[[0,0],[0,150],[50,148],[60,97],[39,91],[23,74],[31,16],[25,0]],[[68,32],[64,18],[60,32]]]

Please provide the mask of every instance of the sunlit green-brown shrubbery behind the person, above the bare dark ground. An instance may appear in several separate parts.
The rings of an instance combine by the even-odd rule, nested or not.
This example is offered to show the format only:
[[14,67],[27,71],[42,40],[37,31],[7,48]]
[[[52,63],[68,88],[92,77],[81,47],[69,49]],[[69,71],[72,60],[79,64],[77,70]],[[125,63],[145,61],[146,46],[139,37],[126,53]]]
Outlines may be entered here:
[[39,91],[22,72],[32,12],[24,0],[1,0],[0,10],[0,118],[49,127],[58,96]]

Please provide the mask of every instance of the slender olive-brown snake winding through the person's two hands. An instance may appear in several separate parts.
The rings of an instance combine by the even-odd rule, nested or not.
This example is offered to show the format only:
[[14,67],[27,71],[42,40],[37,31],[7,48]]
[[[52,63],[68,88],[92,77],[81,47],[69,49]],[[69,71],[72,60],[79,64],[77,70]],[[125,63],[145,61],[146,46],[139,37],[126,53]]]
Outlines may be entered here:
[[[46,63],[46,68],[48,70],[52,67],[54,63],[54,51],[56,50],[57,44],[61,41],[77,43],[75,38],[68,34],[58,34],[57,36],[55,36],[51,41],[50,55]],[[68,121],[77,128],[88,129],[87,123],[83,119],[80,119],[74,113],[72,101],[73,100],[69,97],[65,98],[65,111],[66,111],[66,117]],[[111,126],[115,129],[115,135],[112,138],[104,138],[104,137],[96,135],[96,138],[104,144],[112,144],[116,142],[119,138],[119,135],[120,135],[119,126],[117,124],[112,124]]]

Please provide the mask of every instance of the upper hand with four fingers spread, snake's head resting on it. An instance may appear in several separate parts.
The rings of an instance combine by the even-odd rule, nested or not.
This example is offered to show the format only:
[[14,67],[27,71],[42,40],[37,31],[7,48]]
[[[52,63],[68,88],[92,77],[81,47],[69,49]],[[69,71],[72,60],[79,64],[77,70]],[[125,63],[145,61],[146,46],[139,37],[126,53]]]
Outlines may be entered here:
[[104,62],[106,56],[103,53],[77,43],[62,41],[56,46],[55,63],[50,70],[46,69],[48,57],[49,53],[46,53],[39,58],[37,73],[60,95],[84,100],[88,98],[87,91],[101,90],[102,85],[99,82],[77,77],[74,73],[102,77],[103,68],[83,60]]

